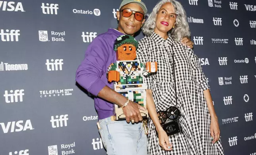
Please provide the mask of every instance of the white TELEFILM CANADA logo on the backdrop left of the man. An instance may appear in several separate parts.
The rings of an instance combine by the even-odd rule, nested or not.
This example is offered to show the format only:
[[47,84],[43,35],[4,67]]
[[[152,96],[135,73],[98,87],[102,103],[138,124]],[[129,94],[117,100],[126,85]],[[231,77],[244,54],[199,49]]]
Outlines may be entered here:
[[73,89],[54,89],[39,91],[41,98],[50,98],[56,96],[71,96]]

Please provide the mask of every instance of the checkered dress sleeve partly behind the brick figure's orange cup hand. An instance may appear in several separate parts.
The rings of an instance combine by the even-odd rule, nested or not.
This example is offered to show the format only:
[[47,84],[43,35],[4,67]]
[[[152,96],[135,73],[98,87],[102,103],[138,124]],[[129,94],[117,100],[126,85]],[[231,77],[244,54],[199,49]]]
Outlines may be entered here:
[[[145,42],[138,42],[139,46],[138,49],[136,50],[136,57],[137,60],[140,60],[141,63],[146,63],[149,62],[149,55],[147,54],[147,45],[145,44]],[[147,85],[147,89],[151,89],[152,88],[152,77],[150,76],[150,74],[148,74],[147,76],[143,76],[143,81],[144,83]]]

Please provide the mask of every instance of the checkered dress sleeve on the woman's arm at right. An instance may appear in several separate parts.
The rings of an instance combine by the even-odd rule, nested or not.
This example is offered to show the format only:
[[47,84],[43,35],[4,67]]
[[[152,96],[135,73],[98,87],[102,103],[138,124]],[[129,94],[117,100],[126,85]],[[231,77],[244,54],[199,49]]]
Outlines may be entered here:
[[210,89],[208,82],[206,80],[206,76],[202,70],[202,66],[198,60],[198,57],[194,54],[194,51],[190,48],[187,49],[190,55],[190,64],[193,69],[193,76],[198,85],[202,88],[203,91]]

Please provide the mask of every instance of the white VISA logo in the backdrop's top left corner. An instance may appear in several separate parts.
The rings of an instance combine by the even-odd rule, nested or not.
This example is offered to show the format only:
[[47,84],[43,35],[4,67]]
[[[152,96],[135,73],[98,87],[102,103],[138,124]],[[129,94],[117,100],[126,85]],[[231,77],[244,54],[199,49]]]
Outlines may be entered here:
[[21,2],[0,1],[0,10],[25,12]]

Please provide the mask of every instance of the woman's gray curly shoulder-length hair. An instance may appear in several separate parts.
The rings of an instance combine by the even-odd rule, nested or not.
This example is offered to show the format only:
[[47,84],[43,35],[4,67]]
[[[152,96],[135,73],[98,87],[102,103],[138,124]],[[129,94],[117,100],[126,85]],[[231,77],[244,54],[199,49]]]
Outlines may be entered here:
[[155,21],[157,17],[157,13],[161,6],[165,3],[170,2],[176,14],[176,25],[175,28],[172,28],[168,33],[171,34],[174,41],[179,42],[183,37],[190,37],[190,30],[188,26],[188,21],[186,17],[186,12],[180,2],[176,0],[161,0],[157,3],[157,5],[153,8],[153,11],[150,13],[147,21],[145,21],[144,25],[142,26],[142,32],[146,36],[151,36],[155,29]]

